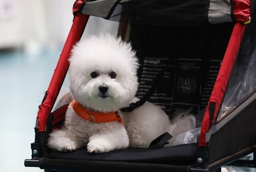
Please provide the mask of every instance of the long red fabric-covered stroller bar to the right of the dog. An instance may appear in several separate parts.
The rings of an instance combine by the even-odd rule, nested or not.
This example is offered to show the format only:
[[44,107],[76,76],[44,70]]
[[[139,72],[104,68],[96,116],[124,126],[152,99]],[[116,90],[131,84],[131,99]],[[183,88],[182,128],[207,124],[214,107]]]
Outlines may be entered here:
[[[215,121],[217,117],[217,112],[220,108],[220,103],[224,96],[225,88],[227,86],[227,82],[229,80],[230,72],[235,62],[235,58],[237,57],[237,52],[239,51],[240,42],[242,40],[244,34],[245,25],[241,22],[237,22],[232,31],[232,35],[229,40],[229,45],[227,46],[227,50],[225,52],[222,65],[220,66],[220,71],[217,76],[217,79],[214,84],[214,89],[212,90],[212,94],[210,96],[209,102],[215,102],[215,112],[214,118],[212,119],[212,123]],[[210,114],[209,114],[209,106],[205,111],[204,119],[201,127],[201,134],[199,140],[199,146],[206,145],[206,132],[210,129]]]

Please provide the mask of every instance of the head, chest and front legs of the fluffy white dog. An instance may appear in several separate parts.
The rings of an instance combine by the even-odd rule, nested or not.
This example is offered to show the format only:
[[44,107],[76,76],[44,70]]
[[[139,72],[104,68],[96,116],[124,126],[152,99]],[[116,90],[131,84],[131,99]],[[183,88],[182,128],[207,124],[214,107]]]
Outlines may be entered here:
[[121,38],[101,35],[77,43],[69,68],[74,101],[64,126],[49,135],[47,145],[58,151],[87,145],[89,153],[127,148],[129,137],[117,111],[135,96],[138,66],[135,52]]

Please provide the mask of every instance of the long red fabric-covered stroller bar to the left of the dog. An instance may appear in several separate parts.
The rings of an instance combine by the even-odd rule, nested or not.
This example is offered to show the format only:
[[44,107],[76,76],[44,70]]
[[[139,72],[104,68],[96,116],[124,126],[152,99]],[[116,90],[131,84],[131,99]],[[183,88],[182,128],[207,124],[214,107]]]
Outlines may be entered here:
[[41,106],[39,106],[39,111],[37,113],[37,127],[39,132],[46,130],[47,117],[50,114],[52,107],[54,106],[54,102],[57,99],[57,94],[59,94],[59,90],[61,89],[67,69],[69,67],[68,59],[71,53],[71,49],[84,32],[84,27],[88,19],[89,16],[81,13],[76,14],[76,17],[74,18],[71,30],[67,36],[66,43],[63,47],[56,69],[52,75],[51,82],[46,91],[46,99],[44,102],[42,102]]

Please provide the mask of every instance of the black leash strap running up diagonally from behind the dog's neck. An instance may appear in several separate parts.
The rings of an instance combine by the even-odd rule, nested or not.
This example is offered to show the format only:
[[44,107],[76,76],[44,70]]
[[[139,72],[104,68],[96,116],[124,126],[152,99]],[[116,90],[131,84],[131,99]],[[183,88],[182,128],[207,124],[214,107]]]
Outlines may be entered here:
[[120,109],[120,111],[122,111],[122,112],[131,112],[135,108],[142,106],[147,100],[149,100],[150,96],[152,96],[152,94],[155,92],[155,89],[157,88],[157,85],[160,83],[160,80],[163,78],[164,71],[165,71],[165,68],[162,71],[160,71],[157,76],[155,76],[155,79],[153,81],[153,84],[152,84],[151,88],[149,89],[149,91],[147,91],[147,93],[141,99],[139,99],[139,101],[132,102],[129,105],[129,107],[123,107],[122,109]]

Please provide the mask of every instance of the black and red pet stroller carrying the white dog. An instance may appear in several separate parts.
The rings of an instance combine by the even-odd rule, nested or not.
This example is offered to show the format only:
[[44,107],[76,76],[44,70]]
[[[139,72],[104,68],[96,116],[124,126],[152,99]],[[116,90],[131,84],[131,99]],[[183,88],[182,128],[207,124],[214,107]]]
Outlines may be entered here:
[[[254,160],[239,159],[255,153],[256,145],[255,10],[254,0],[76,1],[25,166],[46,171],[215,171],[230,163],[255,167]],[[46,147],[49,132],[64,121],[67,105],[52,108],[71,48],[89,16],[120,22],[119,35],[132,43],[140,61],[137,97],[162,106],[170,118],[179,112],[194,114],[199,128],[172,147],[163,147],[165,140],[152,148],[99,155],[89,155],[86,148],[65,153]]]

